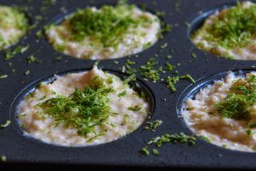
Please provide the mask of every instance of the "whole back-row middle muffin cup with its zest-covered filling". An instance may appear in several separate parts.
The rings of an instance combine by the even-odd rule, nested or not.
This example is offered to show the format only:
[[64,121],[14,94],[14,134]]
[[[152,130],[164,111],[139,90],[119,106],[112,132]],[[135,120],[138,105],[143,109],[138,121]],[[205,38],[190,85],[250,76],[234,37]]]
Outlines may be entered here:
[[[49,21],[45,39],[56,51],[75,58],[104,60],[140,53],[158,41],[160,19],[150,10],[132,6],[95,4],[72,9]],[[111,10],[118,13],[113,19]],[[87,25],[78,26],[81,22]]]

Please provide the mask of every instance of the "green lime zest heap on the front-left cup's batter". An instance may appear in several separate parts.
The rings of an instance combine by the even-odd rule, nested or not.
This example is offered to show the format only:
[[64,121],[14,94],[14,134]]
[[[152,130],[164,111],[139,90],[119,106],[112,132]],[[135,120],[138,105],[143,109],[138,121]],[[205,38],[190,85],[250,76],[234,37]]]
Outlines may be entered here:
[[103,79],[98,80],[93,79],[93,84],[86,85],[85,90],[75,88],[68,98],[58,95],[37,106],[42,108],[44,113],[55,118],[54,125],[64,123],[66,128],[70,128],[73,124],[78,135],[86,137],[88,133],[94,133],[97,137],[96,125],[106,122],[111,113],[108,93],[113,92],[113,87],[108,88],[103,84]]

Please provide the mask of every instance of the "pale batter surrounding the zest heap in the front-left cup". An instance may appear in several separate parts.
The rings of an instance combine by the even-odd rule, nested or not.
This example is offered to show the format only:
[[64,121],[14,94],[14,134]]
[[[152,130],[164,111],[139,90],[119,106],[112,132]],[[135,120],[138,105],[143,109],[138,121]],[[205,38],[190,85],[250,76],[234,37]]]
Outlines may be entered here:
[[[107,97],[110,111],[104,112],[102,117],[107,119],[103,120],[101,125],[96,125],[93,130],[95,132],[86,136],[78,135],[78,127],[72,122],[69,128],[65,122],[56,126],[54,124],[56,118],[47,113],[44,107],[39,106],[46,100],[58,98],[58,95],[68,98],[75,87],[84,90],[86,85],[92,85],[99,79],[107,88],[113,88],[113,91],[108,93]],[[72,108],[72,111],[79,112],[76,108]],[[111,142],[133,132],[145,121],[148,113],[149,104],[145,97],[138,95],[127,84],[124,85],[120,78],[110,73],[103,73],[94,67],[87,73],[70,73],[64,77],[57,77],[53,83],[41,83],[33,94],[28,95],[19,105],[18,118],[24,129],[24,135],[55,145],[86,146]],[[93,122],[89,123],[89,125],[93,124]]]

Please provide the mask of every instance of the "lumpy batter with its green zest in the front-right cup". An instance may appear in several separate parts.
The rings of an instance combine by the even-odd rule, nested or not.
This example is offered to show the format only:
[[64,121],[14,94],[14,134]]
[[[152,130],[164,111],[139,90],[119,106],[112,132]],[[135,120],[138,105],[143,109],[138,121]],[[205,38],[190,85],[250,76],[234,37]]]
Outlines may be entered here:
[[256,150],[256,73],[227,76],[185,101],[180,114],[200,138],[232,150]]

